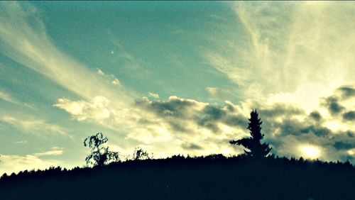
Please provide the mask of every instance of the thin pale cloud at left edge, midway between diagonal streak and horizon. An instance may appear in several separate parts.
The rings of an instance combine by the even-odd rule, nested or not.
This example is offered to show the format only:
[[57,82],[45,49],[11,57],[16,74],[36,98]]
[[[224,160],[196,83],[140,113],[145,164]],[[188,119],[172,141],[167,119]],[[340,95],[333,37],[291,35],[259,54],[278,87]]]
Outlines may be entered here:
[[38,118],[18,118],[15,116],[3,116],[1,121],[10,124],[11,126],[23,130],[24,132],[40,135],[42,133],[54,133],[67,135],[67,130],[61,126],[47,123]]

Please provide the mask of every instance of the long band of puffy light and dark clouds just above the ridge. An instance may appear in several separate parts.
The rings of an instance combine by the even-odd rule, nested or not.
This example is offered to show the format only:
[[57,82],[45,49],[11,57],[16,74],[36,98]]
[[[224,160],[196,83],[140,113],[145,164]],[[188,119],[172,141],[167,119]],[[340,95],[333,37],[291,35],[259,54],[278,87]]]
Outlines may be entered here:
[[[337,91],[331,96],[337,96]],[[342,143],[355,143],[351,132],[354,126],[343,123],[342,115],[334,116],[328,109],[322,109],[327,98],[319,99],[317,110],[307,112],[294,104],[273,101],[242,101],[238,105],[225,101],[218,106],[178,96],[170,96],[166,101],[143,97],[136,99],[127,111],[129,114],[121,119],[111,101],[99,97],[90,102],[61,99],[55,106],[79,121],[94,121],[119,131],[123,131],[124,125],[126,140],[153,146],[151,150],[158,157],[169,152],[192,155],[242,152],[228,142],[249,135],[247,118],[252,109],[258,109],[265,140],[277,155],[300,157],[300,147],[309,145],[317,146],[321,150],[319,158],[324,160],[351,160],[347,151],[353,147],[339,147]],[[343,100],[339,104],[344,104]]]

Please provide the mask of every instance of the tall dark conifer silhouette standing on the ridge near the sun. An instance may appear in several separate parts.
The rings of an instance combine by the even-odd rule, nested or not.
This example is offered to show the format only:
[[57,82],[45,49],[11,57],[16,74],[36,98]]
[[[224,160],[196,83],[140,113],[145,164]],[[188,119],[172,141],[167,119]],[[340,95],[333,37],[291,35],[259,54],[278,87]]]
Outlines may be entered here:
[[268,143],[261,143],[260,140],[263,139],[264,134],[261,133],[261,123],[260,118],[258,117],[258,112],[251,111],[249,118],[248,129],[250,131],[250,138],[243,138],[241,140],[231,140],[229,143],[231,145],[243,145],[245,154],[250,157],[266,157],[271,151]]

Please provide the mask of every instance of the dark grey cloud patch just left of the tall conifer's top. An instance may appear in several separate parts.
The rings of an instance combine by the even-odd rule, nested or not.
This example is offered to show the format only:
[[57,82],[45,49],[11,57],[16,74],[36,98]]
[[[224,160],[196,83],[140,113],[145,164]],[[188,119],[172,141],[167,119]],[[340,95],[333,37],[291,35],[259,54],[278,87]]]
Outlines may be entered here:
[[170,128],[179,132],[190,131],[186,128],[187,123],[196,123],[197,126],[208,128],[214,133],[221,132],[218,123],[234,127],[246,127],[247,124],[246,118],[241,114],[236,114],[234,105],[230,102],[222,107],[172,96],[168,101],[150,101],[143,98],[137,100],[136,105],[163,118]]

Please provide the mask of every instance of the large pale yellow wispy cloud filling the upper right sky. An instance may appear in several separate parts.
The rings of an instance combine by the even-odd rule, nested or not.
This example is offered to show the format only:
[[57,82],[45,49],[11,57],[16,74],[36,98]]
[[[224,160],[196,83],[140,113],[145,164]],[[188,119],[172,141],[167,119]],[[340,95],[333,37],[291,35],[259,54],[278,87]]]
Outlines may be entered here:
[[[204,52],[214,69],[239,85],[244,99],[277,96],[317,108],[343,84],[354,84],[354,4],[236,2],[235,25],[217,24],[217,48]],[[317,91],[317,92],[314,92]],[[275,100],[276,98],[273,98]],[[293,101],[297,99],[297,102]],[[264,100],[262,100],[264,101]]]

